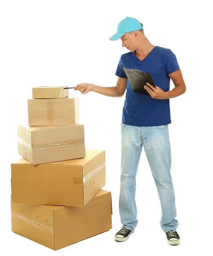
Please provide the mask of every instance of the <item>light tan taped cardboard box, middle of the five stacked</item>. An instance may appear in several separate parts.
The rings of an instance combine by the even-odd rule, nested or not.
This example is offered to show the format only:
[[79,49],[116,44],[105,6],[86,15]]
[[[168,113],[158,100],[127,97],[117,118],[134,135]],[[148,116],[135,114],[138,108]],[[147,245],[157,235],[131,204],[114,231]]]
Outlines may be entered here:
[[85,157],[84,125],[17,125],[18,153],[37,165]]

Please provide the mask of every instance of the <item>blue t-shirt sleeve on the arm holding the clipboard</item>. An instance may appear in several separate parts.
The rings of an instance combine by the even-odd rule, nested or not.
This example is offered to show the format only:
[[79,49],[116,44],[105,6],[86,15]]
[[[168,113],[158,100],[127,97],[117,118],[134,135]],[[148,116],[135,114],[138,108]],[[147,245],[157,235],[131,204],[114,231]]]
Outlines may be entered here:
[[176,55],[170,49],[167,49],[165,53],[164,66],[165,66],[166,73],[168,75],[180,69]]

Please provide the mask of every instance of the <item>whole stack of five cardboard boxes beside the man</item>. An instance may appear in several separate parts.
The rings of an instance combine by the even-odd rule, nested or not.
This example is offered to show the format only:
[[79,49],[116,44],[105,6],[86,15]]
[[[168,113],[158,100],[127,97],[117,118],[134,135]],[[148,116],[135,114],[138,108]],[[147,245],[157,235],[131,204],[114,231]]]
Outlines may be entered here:
[[35,87],[28,126],[18,125],[11,164],[14,233],[53,250],[112,228],[105,186],[105,151],[87,150],[79,99],[64,87]]

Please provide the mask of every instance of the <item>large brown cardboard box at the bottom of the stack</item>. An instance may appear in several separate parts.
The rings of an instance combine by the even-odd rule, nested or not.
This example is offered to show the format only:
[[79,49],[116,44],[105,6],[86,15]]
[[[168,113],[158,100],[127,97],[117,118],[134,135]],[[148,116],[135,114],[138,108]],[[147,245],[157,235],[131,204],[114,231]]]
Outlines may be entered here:
[[112,228],[111,192],[101,190],[85,207],[60,207],[11,202],[14,233],[53,250]]

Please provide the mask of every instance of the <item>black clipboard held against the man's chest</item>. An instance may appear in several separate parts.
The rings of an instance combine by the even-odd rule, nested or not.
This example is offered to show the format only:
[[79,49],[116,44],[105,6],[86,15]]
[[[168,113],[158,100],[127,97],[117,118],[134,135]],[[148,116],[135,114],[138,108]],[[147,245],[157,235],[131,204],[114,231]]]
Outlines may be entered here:
[[[131,87],[134,93],[141,93],[144,95],[151,96],[144,86],[148,86],[146,83],[153,85],[156,88],[150,73],[142,72],[137,69],[130,69],[123,67],[123,70],[129,79]],[[150,87],[151,88],[151,87]],[[152,89],[151,89],[152,90]]]

